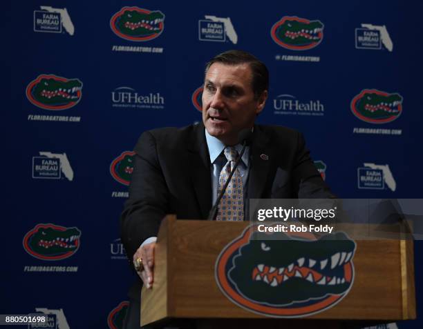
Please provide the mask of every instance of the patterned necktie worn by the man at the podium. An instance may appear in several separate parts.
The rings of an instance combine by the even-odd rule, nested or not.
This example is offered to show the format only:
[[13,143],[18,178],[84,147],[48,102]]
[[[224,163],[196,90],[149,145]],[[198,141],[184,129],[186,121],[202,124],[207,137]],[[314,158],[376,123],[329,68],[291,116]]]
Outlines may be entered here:
[[[228,146],[223,151],[227,159],[227,163],[220,172],[218,194],[223,190],[223,186],[231,170],[235,166],[235,161],[238,158],[238,152],[233,146]],[[236,168],[234,175],[225,190],[225,194],[220,199],[218,206],[218,215],[216,221],[243,221],[244,220],[244,192],[243,180],[241,173]]]

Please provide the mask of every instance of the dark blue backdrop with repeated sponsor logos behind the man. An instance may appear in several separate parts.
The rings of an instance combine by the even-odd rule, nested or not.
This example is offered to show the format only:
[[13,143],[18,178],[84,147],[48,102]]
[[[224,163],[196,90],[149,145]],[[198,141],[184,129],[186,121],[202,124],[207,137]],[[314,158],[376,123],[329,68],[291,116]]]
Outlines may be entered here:
[[[303,132],[339,197],[422,198],[422,10],[379,0],[12,3],[1,313],[47,308],[59,328],[120,328],[133,281],[118,239],[131,150],[144,130],[201,120],[205,63],[225,50],[266,63],[259,122]],[[416,241],[417,306],[422,255]]]

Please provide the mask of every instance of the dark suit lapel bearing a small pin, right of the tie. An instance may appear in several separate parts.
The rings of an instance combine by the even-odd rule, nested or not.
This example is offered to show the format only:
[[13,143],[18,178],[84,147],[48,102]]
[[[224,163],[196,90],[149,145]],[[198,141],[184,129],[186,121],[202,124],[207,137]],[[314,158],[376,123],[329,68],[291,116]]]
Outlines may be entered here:
[[254,126],[250,154],[252,163],[248,179],[248,198],[261,199],[275,154],[269,146],[269,137],[259,126]]

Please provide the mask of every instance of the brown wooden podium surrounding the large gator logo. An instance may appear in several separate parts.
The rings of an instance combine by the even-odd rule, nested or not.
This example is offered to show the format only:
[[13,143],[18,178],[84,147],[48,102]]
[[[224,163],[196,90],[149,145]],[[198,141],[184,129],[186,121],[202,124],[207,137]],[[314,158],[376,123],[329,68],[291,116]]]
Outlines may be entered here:
[[237,306],[218,288],[214,266],[221,250],[248,225],[167,216],[158,234],[153,288],[142,288],[142,326],[196,319],[203,328],[286,328],[287,323],[296,328],[340,328],[342,321],[415,319],[411,239],[356,240],[355,280],[350,292],[335,306],[316,315],[272,319]]

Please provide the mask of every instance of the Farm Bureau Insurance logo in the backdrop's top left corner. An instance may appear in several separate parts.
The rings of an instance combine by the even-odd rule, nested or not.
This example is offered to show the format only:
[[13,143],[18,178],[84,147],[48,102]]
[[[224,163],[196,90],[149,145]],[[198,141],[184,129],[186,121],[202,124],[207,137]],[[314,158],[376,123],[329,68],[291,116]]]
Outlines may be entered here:
[[41,6],[41,10],[34,10],[34,32],[62,33],[62,26],[68,34],[75,33],[75,26],[66,8]]

